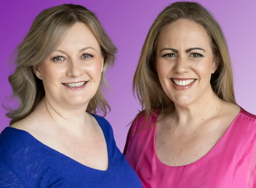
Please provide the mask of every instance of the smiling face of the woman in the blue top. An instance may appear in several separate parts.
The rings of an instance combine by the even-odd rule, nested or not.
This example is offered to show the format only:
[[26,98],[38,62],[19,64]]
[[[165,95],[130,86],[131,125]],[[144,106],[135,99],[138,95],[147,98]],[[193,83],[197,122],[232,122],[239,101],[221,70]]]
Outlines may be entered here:
[[104,59],[100,45],[83,23],[76,23],[61,44],[39,66],[46,98],[61,105],[88,104],[101,80]]

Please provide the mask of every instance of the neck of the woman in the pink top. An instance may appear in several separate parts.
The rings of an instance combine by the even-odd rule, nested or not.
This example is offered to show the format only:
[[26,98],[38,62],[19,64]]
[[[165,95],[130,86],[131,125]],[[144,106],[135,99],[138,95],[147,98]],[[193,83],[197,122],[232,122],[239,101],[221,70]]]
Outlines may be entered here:
[[198,101],[189,106],[183,107],[175,105],[174,121],[176,125],[186,126],[188,124],[198,125],[206,119],[210,119],[219,112],[221,106],[221,99],[213,92],[211,88],[208,89]]

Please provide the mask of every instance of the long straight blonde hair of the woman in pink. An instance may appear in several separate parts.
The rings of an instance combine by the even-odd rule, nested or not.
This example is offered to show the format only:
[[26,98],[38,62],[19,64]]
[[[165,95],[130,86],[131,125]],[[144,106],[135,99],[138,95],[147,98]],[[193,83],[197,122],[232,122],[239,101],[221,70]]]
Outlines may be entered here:
[[164,119],[175,110],[173,101],[161,87],[154,65],[161,30],[179,19],[192,20],[205,28],[211,39],[214,58],[218,64],[217,71],[211,76],[212,89],[223,101],[236,104],[228,46],[219,24],[199,3],[176,2],[167,6],[158,15],[143,45],[133,78],[133,93],[137,94],[142,106],[142,111],[137,118],[145,115],[147,120],[150,114],[161,111],[161,119]]

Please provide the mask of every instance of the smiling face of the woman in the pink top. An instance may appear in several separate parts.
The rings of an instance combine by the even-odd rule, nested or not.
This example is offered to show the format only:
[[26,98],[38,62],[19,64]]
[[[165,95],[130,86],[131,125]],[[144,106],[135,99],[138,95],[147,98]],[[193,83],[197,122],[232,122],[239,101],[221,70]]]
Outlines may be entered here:
[[201,25],[180,19],[163,28],[156,71],[175,105],[186,107],[212,91],[210,79],[216,69],[210,38]]

